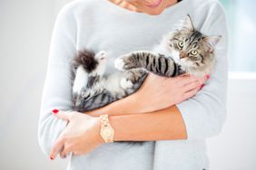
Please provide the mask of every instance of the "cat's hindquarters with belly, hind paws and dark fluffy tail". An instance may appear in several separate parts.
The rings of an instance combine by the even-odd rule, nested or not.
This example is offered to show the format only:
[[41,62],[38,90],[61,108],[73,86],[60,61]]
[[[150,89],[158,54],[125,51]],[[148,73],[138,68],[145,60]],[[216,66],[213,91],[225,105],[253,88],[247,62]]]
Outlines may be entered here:
[[73,110],[86,112],[102,108],[117,99],[123,99],[139,89],[146,78],[146,71],[134,70],[124,74],[114,72],[104,75],[106,52],[84,49],[72,61],[75,78],[73,85]]

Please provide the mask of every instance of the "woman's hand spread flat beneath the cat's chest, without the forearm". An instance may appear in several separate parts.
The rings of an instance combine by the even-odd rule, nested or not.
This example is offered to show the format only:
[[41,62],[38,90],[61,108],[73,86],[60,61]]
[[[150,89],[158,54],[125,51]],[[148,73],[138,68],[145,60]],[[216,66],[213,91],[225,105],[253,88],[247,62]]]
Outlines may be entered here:
[[184,74],[174,78],[165,78],[150,73],[143,86],[135,92],[137,113],[166,109],[185,99],[192,98],[201,90],[209,75],[204,78]]

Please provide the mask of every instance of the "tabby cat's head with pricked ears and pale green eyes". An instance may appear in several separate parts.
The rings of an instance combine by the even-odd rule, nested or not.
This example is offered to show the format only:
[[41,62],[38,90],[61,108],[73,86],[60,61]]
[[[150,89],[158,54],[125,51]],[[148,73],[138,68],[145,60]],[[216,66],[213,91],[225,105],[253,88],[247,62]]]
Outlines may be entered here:
[[212,72],[215,64],[214,48],[222,36],[207,36],[196,30],[187,15],[174,31],[164,36],[164,45],[182,70],[202,77]]

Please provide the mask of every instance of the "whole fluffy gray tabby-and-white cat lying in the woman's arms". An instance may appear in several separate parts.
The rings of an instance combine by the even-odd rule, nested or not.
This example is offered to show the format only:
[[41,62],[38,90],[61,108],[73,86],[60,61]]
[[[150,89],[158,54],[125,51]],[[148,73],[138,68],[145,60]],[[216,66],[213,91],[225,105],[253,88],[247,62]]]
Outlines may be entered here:
[[[189,73],[196,77],[210,74],[216,57],[214,47],[221,35],[207,36],[196,30],[188,14],[152,51],[136,51],[115,60],[119,71],[105,76],[107,52],[87,49],[74,57],[74,110],[86,112],[102,108],[133,94],[143,84],[148,72],[174,77]],[[123,74],[120,74],[123,71]]]

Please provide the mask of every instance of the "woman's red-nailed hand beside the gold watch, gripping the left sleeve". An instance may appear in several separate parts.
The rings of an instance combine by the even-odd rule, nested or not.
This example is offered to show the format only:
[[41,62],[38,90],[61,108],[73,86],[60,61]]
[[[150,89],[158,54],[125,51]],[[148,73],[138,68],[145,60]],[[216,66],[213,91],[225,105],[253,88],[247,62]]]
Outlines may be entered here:
[[68,124],[52,147],[51,159],[54,159],[59,152],[63,158],[69,153],[84,155],[103,144],[98,117],[75,111],[58,111],[54,115],[57,118],[67,120]]

